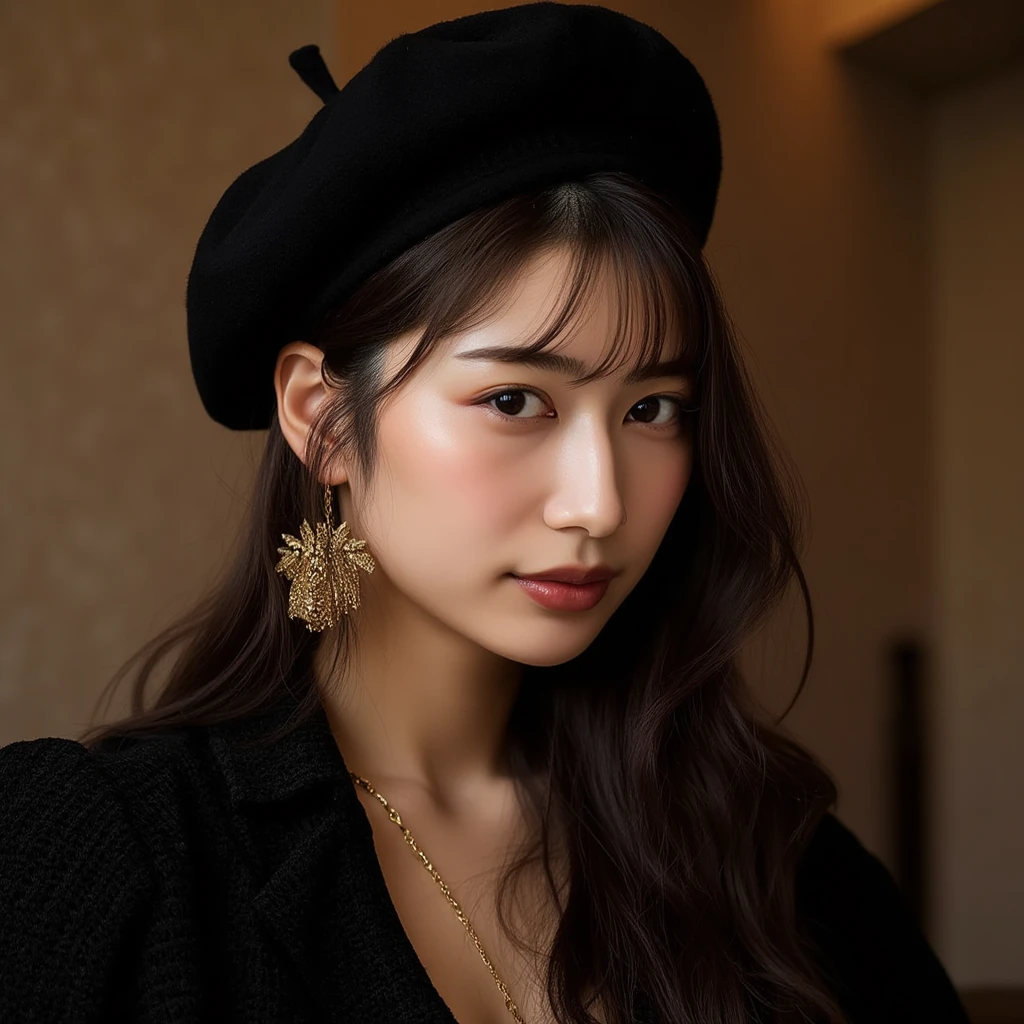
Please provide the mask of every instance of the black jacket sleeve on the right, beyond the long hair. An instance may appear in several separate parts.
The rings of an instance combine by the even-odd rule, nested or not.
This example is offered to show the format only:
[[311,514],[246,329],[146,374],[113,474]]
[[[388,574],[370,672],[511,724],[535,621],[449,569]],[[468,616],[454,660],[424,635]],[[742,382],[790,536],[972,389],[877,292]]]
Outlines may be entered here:
[[895,879],[834,814],[824,816],[804,853],[797,901],[854,1024],[967,1024],[953,984]]

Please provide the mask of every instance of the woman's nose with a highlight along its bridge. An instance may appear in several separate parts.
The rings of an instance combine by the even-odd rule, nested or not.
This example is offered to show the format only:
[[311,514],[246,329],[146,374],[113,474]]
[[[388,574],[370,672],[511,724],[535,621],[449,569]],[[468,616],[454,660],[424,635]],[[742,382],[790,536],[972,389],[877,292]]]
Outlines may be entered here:
[[582,526],[606,537],[626,522],[614,445],[595,420],[579,418],[561,437],[544,517],[553,529]]

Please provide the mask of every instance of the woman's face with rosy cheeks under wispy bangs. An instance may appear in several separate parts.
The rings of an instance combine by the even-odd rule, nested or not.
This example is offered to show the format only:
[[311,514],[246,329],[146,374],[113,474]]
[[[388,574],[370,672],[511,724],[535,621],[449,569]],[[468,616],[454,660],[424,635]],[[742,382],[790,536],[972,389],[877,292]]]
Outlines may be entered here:
[[[566,269],[560,252],[538,257],[501,315],[435,348],[382,407],[374,479],[350,475],[341,490],[342,515],[378,564],[360,573],[365,601],[534,666],[566,662],[597,636],[650,564],[692,465],[686,377],[570,388],[584,369],[481,357],[536,337]],[[595,288],[558,354],[595,365],[614,316],[613,290]],[[415,342],[388,350],[388,379]],[[539,603],[514,575],[598,563],[615,574],[575,610]]]

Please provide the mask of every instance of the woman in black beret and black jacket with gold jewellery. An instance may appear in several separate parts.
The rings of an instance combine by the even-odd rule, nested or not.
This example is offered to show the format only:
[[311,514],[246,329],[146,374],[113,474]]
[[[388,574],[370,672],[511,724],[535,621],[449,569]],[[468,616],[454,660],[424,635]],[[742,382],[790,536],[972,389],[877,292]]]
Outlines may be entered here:
[[293,66],[188,282],[248,526],[128,719],[0,752],[0,1018],[965,1020],[737,670],[810,604],[692,66],[553,3]]

